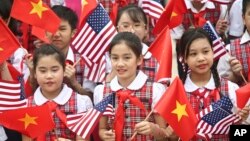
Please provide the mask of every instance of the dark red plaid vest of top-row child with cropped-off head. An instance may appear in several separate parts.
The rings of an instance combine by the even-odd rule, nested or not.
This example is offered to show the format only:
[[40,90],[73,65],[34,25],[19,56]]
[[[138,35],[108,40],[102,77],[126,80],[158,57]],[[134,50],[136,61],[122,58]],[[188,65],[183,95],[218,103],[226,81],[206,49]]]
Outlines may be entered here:
[[[220,17],[220,5],[217,3],[214,3],[215,8],[214,9],[206,9],[206,13],[205,13],[205,19],[209,20],[214,26],[216,25],[217,21],[219,20]],[[190,26],[190,19],[192,20],[192,22],[194,23],[194,16],[193,16],[193,12],[189,9],[188,13],[184,14],[183,17],[183,21],[182,21],[182,25],[185,28],[185,30],[187,30]]]

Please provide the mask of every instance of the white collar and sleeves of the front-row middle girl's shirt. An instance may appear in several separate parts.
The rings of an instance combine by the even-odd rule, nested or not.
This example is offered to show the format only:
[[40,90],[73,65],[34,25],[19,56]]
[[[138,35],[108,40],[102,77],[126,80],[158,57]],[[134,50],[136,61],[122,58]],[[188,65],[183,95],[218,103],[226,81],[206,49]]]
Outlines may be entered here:
[[[142,71],[139,71],[136,78],[133,80],[131,84],[127,87],[129,90],[139,90],[141,89],[146,81],[148,76],[144,74]],[[110,88],[112,91],[118,91],[120,89],[124,89],[119,82],[117,76],[110,81]],[[163,93],[165,92],[166,88],[161,83],[154,82],[153,83],[153,93],[152,93],[152,105],[151,108],[155,106],[155,104],[159,101]],[[103,91],[104,85],[96,86],[94,90],[94,104],[98,104],[103,99]]]

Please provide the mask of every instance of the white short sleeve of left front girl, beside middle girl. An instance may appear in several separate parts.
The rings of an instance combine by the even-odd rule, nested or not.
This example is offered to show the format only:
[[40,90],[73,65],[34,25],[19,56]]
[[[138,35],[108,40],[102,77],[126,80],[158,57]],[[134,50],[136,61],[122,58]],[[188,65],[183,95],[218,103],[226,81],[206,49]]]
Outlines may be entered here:
[[85,112],[93,108],[91,99],[86,95],[77,94],[77,113]]

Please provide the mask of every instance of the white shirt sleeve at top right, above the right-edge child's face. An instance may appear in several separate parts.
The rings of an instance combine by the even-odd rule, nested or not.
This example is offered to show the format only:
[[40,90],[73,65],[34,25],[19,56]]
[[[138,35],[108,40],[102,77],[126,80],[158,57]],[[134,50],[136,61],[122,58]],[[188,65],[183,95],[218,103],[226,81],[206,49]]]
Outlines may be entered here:
[[236,0],[229,11],[229,35],[240,37],[243,33],[242,0]]

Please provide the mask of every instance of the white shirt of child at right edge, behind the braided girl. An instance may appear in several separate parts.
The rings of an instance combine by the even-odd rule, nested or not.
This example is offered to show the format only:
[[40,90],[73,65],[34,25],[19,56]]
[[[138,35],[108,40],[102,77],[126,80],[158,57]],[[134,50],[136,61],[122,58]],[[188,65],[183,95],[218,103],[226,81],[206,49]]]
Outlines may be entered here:
[[[246,30],[240,39],[240,44],[244,44],[249,41],[250,41],[250,35]],[[230,53],[230,45],[227,45],[226,49]],[[229,64],[229,58],[230,55],[228,53],[220,57],[220,60],[217,65],[217,70],[221,77],[228,77],[229,74],[233,73]]]

